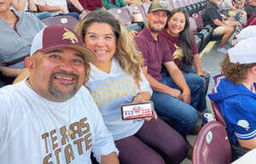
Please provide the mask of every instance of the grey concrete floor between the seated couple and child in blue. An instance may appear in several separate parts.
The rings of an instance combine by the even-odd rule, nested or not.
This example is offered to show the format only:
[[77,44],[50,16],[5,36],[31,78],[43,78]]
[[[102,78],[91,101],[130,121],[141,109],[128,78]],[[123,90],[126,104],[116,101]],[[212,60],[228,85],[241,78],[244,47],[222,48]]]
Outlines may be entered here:
[[[213,42],[212,42],[213,43]],[[213,43],[214,44],[214,43]],[[207,48],[207,47],[206,47]],[[202,68],[211,72],[211,76],[216,76],[220,73],[220,63],[223,61],[225,54],[219,54],[216,49],[218,48],[218,43],[215,43],[212,48],[208,48],[208,52],[204,53],[201,57]],[[207,93],[211,93],[213,88],[213,81],[209,82],[209,88]],[[210,100],[207,97],[207,110],[212,111],[212,106]],[[201,125],[201,119],[197,122],[198,125]],[[190,144],[194,144],[196,136],[188,135],[187,139]],[[185,159],[182,164],[192,164],[192,161]]]

